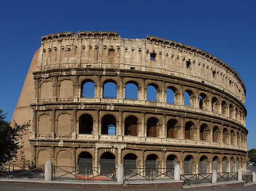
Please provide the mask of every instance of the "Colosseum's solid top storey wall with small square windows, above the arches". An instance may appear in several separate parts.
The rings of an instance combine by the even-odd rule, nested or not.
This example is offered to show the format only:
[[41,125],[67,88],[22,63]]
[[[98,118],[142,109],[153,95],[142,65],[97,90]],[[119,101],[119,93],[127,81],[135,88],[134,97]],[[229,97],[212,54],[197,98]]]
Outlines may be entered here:
[[173,75],[216,87],[245,104],[245,84],[232,67],[203,50],[159,37],[121,39],[117,32],[88,31],[42,37],[37,70],[67,67],[129,69]]

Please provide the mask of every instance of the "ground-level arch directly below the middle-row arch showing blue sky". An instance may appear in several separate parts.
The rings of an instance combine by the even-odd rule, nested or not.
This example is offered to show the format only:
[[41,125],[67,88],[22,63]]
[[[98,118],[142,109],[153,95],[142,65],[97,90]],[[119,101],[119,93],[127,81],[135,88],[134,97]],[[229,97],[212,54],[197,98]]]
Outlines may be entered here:
[[111,152],[104,152],[101,155],[101,173],[112,175],[115,172],[115,155]]

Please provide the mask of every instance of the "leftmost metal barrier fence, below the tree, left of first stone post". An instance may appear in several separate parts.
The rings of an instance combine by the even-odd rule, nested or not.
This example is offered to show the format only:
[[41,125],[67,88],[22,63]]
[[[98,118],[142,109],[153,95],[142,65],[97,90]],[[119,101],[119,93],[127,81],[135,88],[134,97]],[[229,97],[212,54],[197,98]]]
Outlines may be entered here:
[[0,177],[44,179],[44,165],[1,163]]

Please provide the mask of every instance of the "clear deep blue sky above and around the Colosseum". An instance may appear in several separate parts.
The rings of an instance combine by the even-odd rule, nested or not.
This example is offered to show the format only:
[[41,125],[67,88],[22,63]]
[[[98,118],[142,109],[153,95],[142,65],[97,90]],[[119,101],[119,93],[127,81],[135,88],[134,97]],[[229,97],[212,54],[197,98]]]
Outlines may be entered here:
[[1,1],[0,108],[11,120],[41,36],[118,31],[195,46],[232,66],[245,82],[247,147],[256,148],[256,1]]

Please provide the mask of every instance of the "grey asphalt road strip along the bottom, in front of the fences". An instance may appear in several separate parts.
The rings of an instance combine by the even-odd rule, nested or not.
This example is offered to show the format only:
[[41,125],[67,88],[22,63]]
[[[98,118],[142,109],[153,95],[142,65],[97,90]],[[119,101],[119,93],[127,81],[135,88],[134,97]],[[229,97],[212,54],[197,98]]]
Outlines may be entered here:
[[[85,189],[85,188],[64,188],[64,187],[55,187],[55,186],[42,186],[42,185],[20,185],[20,184],[12,184],[12,183],[0,183],[1,191],[71,191],[71,190],[98,190],[98,189]],[[100,189],[99,191],[104,190],[113,190],[113,189]],[[143,190],[154,190],[154,189],[114,189],[114,190],[130,190],[130,191],[143,191]],[[163,191],[167,191],[170,189],[159,189]],[[256,185],[246,186],[246,187],[231,187],[231,188],[196,188],[196,189],[175,189],[172,191],[181,191],[181,190],[189,190],[189,191],[255,191]]]

